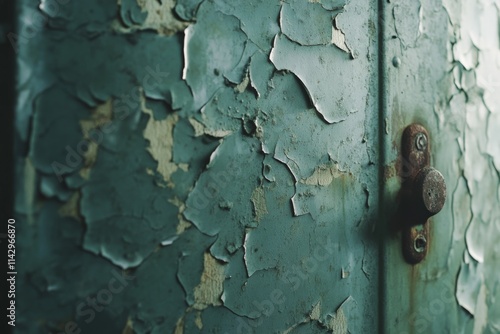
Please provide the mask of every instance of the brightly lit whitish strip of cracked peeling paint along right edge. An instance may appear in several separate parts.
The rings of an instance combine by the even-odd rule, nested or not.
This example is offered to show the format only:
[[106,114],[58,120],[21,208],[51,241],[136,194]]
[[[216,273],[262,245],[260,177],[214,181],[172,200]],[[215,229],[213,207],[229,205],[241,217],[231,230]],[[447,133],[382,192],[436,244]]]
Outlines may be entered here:
[[[466,222],[464,260],[457,282],[458,303],[474,316],[468,324],[475,333],[500,331],[498,272],[500,265],[500,160],[498,129],[500,92],[498,57],[499,5],[474,1],[461,6],[460,22],[451,19],[453,32],[460,36],[452,56],[460,83],[454,78],[454,94],[467,94],[460,165],[467,184],[472,218]],[[475,21],[472,17],[481,17]],[[477,57],[477,58],[476,58]],[[476,59],[475,59],[476,58]],[[462,93],[462,94],[463,94]],[[457,197],[464,196],[457,189]],[[466,196],[467,194],[465,194]],[[455,221],[462,221],[456,217]]]

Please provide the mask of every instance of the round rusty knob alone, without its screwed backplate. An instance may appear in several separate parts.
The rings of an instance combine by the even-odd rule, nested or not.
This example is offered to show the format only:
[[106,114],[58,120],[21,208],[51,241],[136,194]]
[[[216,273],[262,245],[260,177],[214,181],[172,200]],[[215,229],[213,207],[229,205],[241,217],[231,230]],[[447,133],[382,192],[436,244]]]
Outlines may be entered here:
[[425,222],[437,214],[446,200],[446,182],[443,174],[432,167],[422,168],[414,182],[413,200],[417,211]]

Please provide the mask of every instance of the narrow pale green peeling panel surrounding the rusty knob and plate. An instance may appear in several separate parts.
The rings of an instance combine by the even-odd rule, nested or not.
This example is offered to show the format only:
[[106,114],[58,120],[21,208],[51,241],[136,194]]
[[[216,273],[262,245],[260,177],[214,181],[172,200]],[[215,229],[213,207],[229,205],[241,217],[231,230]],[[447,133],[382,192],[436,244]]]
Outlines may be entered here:
[[397,143],[408,124],[429,130],[432,166],[449,195],[431,218],[423,262],[399,265],[397,234],[385,242],[387,333],[498,333],[500,3],[383,4],[387,216],[401,183],[391,172]]

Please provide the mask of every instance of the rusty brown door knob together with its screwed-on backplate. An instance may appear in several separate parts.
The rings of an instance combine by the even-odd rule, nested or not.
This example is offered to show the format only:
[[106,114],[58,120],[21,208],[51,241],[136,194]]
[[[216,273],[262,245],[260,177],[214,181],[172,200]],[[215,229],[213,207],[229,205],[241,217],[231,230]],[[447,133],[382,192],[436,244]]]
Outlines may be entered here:
[[428,220],[446,201],[445,179],[430,166],[429,133],[420,124],[412,124],[403,132],[399,175],[402,185],[397,219],[403,255],[407,262],[416,264],[425,258],[429,247]]

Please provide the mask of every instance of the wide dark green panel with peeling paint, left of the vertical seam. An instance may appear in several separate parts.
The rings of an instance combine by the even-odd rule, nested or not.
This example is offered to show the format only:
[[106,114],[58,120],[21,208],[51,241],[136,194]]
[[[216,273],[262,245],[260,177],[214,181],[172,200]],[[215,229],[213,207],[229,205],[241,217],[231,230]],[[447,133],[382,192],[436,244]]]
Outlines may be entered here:
[[17,333],[377,327],[372,1],[19,3]]

